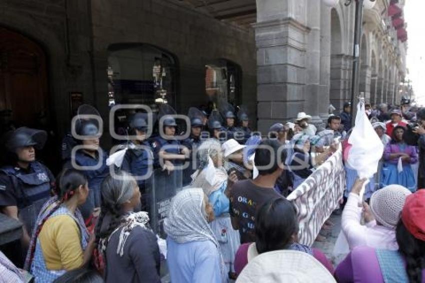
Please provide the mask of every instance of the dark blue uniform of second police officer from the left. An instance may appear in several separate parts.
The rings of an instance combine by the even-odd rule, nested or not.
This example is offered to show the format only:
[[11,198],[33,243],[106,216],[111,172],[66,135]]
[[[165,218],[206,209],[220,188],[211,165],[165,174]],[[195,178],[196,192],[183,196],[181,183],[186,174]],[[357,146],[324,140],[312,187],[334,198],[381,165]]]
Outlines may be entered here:
[[[94,207],[100,206],[100,189],[101,189],[101,183],[104,180],[104,178],[109,174],[109,167],[106,165],[106,158],[107,153],[101,149],[102,157],[100,160],[100,156],[98,156],[96,152],[96,157],[91,156],[90,154],[84,152],[83,150],[78,150],[75,152],[74,160],[75,163],[78,166],[84,166],[84,167],[95,167],[100,162],[100,167],[97,169],[79,169],[87,178],[88,182],[88,197],[85,200],[85,203],[82,204],[79,207],[79,210],[81,211],[82,216],[84,219],[88,218],[93,211]],[[72,163],[71,161],[68,161],[67,164],[65,164],[64,167],[71,168]]]

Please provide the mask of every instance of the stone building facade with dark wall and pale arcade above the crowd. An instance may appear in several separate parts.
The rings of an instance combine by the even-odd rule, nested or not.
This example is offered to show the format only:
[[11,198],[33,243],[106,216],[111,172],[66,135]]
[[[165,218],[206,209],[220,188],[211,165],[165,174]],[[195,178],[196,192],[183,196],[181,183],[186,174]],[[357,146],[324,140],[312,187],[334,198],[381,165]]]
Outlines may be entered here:
[[[344,2],[331,8],[322,0],[257,0],[256,23],[246,27],[179,0],[0,0],[0,26],[45,50],[59,136],[69,124],[72,91],[82,92],[107,121],[110,47],[127,43],[173,55],[180,113],[206,102],[205,65],[237,64],[240,100],[257,117],[253,126],[265,131],[300,111],[320,123],[329,103],[337,112],[349,99],[355,8]],[[371,103],[397,103],[405,74],[406,43],[390,27],[388,5],[376,0],[363,15],[359,91]]]

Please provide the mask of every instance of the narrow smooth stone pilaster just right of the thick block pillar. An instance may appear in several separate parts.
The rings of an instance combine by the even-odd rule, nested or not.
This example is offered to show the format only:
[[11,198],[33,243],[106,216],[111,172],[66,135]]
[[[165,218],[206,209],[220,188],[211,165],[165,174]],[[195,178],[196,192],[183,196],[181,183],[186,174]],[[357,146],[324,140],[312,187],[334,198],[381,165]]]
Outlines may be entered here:
[[[306,51],[306,85],[305,85],[305,112],[312,116],[311,122],[315,125],[322,123],[318,104],[322,97],[320,94],[320,3],[321,1],[308,1],[307,25],[310,28],[307,35]],[[322,4],[324,5],[324,4]]]

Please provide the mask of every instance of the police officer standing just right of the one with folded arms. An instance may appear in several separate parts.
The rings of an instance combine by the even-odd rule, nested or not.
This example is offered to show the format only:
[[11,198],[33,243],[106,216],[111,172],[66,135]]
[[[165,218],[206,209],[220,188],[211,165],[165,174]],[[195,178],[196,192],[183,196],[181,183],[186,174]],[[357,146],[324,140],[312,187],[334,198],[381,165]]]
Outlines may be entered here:
[[196,170],[196,164],[193,164],[193,158],[196,156],[196,148],[201,143],[200,134],[202,127],[202,120],[199,117],[192,117],[190,119],[190,135],[182,142],[189,150],[189,166],[183,170],[183,186],[188,185],[192,181],[191,175]]

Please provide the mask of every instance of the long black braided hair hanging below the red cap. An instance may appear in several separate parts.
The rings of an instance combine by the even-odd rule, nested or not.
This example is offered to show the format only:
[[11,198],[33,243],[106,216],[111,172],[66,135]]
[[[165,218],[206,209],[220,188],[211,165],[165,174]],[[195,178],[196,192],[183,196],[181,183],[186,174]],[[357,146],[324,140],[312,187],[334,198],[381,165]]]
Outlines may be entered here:
[[409,283],[422,282],[422,269],[425,267],[425,241],[415,238],[400,219],[395,227],[398,251],[406,260]]

